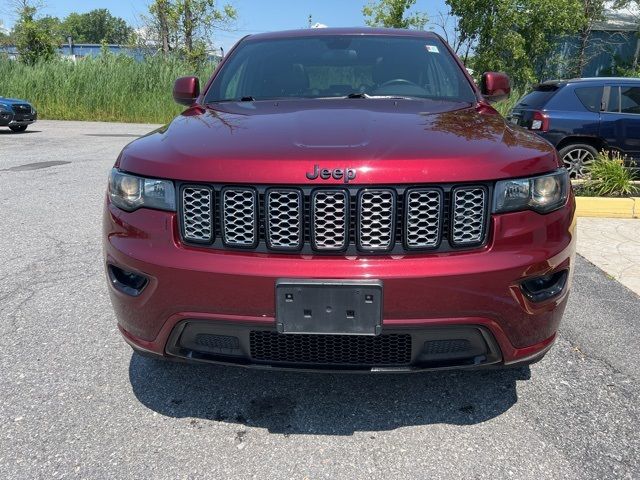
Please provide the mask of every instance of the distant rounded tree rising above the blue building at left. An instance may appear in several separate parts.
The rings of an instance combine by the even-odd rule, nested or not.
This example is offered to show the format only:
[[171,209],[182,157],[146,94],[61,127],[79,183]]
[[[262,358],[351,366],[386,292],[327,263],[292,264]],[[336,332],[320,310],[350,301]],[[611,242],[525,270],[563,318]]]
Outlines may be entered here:
[[64,38],[73,37],[76,43],[128,43],[133,29],[125,20],[114,17],[106,8],[87,13],[71,13],[60,26]]

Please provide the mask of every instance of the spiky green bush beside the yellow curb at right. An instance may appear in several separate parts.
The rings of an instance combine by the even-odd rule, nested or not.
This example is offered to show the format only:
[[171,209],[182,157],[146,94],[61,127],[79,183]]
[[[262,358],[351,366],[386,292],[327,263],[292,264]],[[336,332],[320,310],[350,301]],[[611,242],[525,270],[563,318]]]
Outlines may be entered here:
[[625,168],[624,158],[619,152],[600,152],[591,164],[590,172],[580,194],[587,196],[621,197],[639,191],[632,183],[633,174]]

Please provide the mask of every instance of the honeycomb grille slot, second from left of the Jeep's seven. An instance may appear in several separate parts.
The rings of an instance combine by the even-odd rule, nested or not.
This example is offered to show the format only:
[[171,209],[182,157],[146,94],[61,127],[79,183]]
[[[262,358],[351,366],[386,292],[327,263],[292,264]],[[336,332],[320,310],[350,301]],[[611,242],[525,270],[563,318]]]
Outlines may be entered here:
[[222,190],[222,237],[235,247],[257,243],[256,192],[251,188],[227,187]]

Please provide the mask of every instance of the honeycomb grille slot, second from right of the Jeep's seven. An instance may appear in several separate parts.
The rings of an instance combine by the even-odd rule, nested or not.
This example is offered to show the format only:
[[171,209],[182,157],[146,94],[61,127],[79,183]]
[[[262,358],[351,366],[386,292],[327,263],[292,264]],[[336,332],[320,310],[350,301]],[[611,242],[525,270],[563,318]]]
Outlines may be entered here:
[[411,190],[406,195],[405,208],[407,247],[437,247],[441,236],[442,192],[434,188]]

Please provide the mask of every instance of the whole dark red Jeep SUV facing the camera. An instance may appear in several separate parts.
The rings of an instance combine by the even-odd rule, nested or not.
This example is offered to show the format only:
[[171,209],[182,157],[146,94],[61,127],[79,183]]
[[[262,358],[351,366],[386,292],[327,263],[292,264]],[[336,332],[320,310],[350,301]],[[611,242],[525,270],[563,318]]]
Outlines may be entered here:
[[432,33],[241,40],[111,171],[105,266],[142,353],[261,368],[533,362],[575,253],[554,148]]

